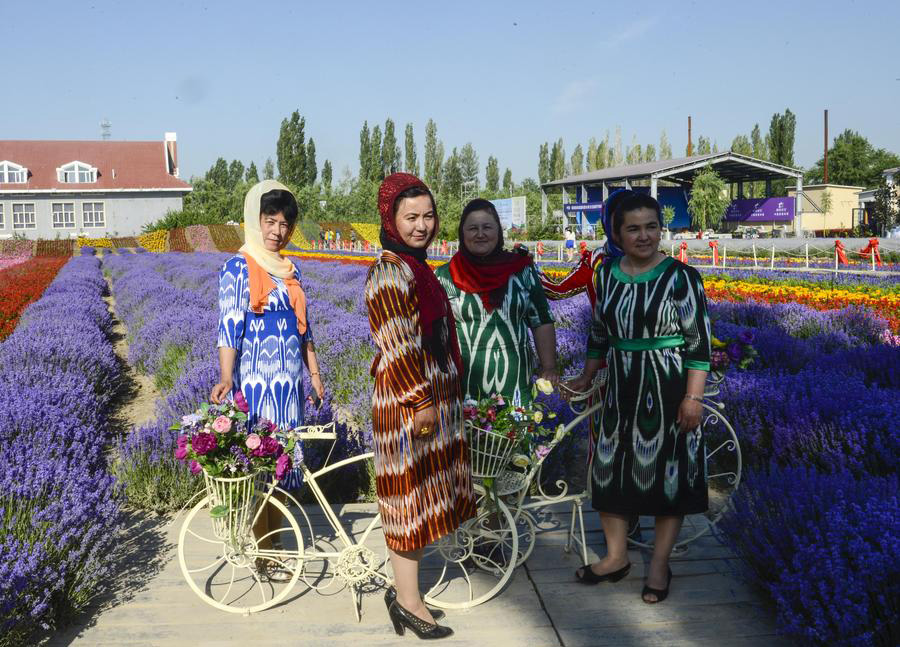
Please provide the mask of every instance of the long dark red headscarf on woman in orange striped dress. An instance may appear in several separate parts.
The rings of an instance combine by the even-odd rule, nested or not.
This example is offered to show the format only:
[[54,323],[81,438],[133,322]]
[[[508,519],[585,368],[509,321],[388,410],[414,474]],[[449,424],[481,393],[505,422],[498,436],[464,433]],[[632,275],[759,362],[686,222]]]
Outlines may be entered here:
[[[425,248],[410,247],[400,237],[394,217],[394,203],[397,197],[406,191],[419,187],[426,191],[428,187],[422,180],[409,173],[393,173],[381,183],[378,189],[378,211],[381,213],[381,246],[399,256],[412,271],[416,282],[416,296],[419,301],[419,321],[422,324],[422,337],[428,350],[435,355],[439,364],[446,365],[449,355],[456,364],[457,373],[462,374],[462,356],[459,342],[456,339],[456,322],[450,309],[447,293],[428,265],[426,248],[437,235],[440,220],[437,209],[434,213],[434,231]],[[431,192],[429,191],[429,195]],[[434,203],[434,197],[432,197]]]

